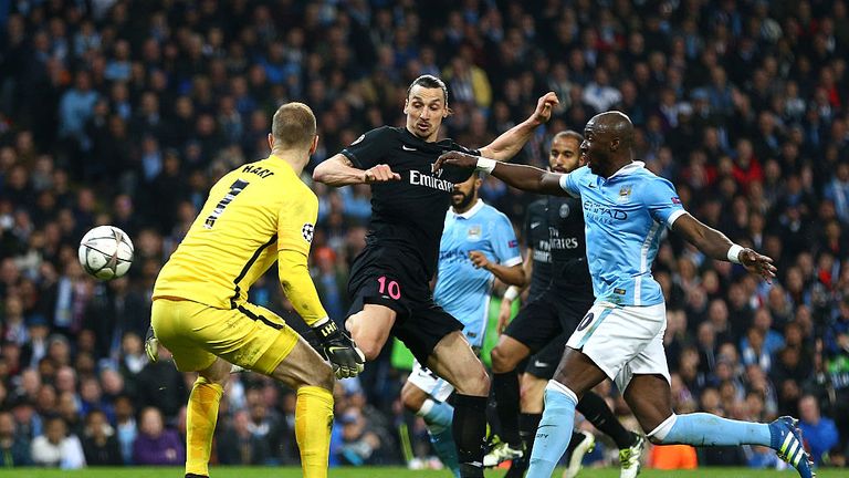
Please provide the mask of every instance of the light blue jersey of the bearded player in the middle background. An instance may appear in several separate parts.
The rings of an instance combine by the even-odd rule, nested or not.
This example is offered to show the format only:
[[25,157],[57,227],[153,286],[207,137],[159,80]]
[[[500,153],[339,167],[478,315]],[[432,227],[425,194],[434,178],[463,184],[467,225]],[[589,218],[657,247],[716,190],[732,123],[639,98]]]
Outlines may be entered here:
[[469,342],[481,346],[494,276],[474,268],[469,259],[472,251],[481,251],[491,262],[506,267],[522,262],[518,240],[510,219],[480,199],[461,215],[453,209],[446,215],[433,299],[463,323]]

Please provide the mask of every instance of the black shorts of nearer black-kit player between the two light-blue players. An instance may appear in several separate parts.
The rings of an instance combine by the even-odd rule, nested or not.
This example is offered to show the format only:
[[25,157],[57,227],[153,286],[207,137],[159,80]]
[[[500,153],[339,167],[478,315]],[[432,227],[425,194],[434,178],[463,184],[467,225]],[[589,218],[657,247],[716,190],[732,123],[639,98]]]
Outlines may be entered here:
[[[507,325],[504,331],[509,336],[523,343],[531,349],[532,354],[536,354],[555,340],[565,345],[566,340],[578,326],[578,322],[584,318],[595,299],[586,294],[573,294],[568,291],[557,288],[549,288],[536,299],[528,302]],[[539,362],[552,364],[556,367],[559,363],[559,356],[563,353],[562,345],[555,345],[553,352],[546,352],[548,355]],[[559,350],[559,353],[557,352]],[[549,357],[556,354],[556,360]],[[528,362],[528,367],[533,366],[534,361]],[[539,370],[546,366],[537,367]],[[543,372],[541,372],[543,373]],[[554,370],[552,370],[552,374]],[[536,373],[534,374],[536,376]]]

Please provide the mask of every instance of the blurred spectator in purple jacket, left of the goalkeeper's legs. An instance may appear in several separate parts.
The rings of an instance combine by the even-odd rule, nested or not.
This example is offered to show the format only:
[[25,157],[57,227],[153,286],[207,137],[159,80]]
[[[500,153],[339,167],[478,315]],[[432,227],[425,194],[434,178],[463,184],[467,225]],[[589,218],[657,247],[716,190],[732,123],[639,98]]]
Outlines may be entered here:
[[147,407],[139,414],[138,436],[133,444],[137,465],[182,465],[186,448],[177,432],[165,428],[159,409]]

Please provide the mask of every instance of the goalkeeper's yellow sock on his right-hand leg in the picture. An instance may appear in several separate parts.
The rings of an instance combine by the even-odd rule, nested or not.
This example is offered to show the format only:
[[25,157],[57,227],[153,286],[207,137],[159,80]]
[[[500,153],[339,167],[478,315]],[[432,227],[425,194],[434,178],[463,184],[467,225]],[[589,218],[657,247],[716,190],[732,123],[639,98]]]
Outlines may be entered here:
[[295,440],[304,478],[326,478],[333,426],[333,394],[317,386],[297,388]]

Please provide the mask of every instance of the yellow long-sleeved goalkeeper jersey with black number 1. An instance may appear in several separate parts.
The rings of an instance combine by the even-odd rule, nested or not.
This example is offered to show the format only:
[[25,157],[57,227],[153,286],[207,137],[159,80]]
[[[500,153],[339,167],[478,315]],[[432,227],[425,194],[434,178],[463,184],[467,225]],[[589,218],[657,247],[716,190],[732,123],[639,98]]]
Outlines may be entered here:
[[159,272],[154,299],[235,309],[280,257],[295,310],[307,323],[326,316],[306,266],[317,215],[315,194],[276,156],[228,173]]

